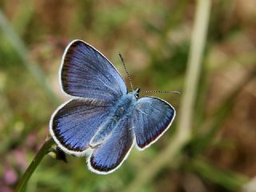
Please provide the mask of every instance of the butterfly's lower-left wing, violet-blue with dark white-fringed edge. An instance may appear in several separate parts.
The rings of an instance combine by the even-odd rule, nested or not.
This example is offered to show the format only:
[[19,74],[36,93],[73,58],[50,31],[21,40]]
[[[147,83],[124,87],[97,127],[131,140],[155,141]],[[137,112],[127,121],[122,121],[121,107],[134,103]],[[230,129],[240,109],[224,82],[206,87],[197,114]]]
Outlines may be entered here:
[[90,139],[107,118],[110,107],[91,99],[71,99],[52,115],[50,134],[66,153],[82,156],[90,148]]

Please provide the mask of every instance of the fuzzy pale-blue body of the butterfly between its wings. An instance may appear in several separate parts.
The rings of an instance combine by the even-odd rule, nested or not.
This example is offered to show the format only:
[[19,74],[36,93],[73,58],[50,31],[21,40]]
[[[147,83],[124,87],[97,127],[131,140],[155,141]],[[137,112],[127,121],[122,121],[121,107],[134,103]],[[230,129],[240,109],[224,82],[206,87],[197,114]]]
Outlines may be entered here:
[[102,125],[98,127],[98,131],[94,135],[94,138],[91,139],[91,147],[100,145],[110,137],[115,129],[118,129],[119,123],[125,121],[126,118],[130,118],[138,100],[136,95],[137,91],[133,91],[128,94],[123,94],[121,98],[118,98],[118,101],[113,104],[109,118],[107,118],[105,122],[102,122]]

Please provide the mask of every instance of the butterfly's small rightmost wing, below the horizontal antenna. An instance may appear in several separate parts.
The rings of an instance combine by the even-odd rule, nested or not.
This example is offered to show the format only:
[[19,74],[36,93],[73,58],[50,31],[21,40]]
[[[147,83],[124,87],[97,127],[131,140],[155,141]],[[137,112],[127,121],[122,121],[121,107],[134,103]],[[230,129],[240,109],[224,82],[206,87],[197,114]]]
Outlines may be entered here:
[[175,110],[169,103],[153,97],[138,99],[131,118],[140,150],[154,143],[171,125]]

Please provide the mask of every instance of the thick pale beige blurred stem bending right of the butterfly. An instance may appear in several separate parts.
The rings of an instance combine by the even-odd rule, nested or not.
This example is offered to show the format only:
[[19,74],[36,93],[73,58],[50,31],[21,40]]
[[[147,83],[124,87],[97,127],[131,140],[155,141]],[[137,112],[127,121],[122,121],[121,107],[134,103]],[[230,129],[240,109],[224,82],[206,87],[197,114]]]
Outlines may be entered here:
[[[134,182],[126,187],[125,191],[138,191],[147,182],[150,182],[154,175],[158,173],[171,160],[178,158],[182,147],[190,141],[192,129],[194,102],[198,90],[198,78],[202,66],[202,54],[206,42],[206,34],[210,17],[210,0],[198,0],[194,29],[191,38],[190,56],[186,70],[185,87],[183,91],[180,118],[178,119],[178,132],[174,135],[174,140],[154,159],[146,169],[142,170]],[[150,169],[149,169],[150,167]]]

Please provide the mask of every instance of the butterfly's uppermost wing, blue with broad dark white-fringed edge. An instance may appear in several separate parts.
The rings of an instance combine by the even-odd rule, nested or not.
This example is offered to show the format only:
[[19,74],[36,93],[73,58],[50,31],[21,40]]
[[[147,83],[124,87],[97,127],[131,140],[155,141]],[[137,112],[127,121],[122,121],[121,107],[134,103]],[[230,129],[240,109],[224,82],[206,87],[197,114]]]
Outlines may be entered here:
[[81,40],[67,46],[60,70],[66,94],[112,102],[127,93],[122,76],[94,47]]

